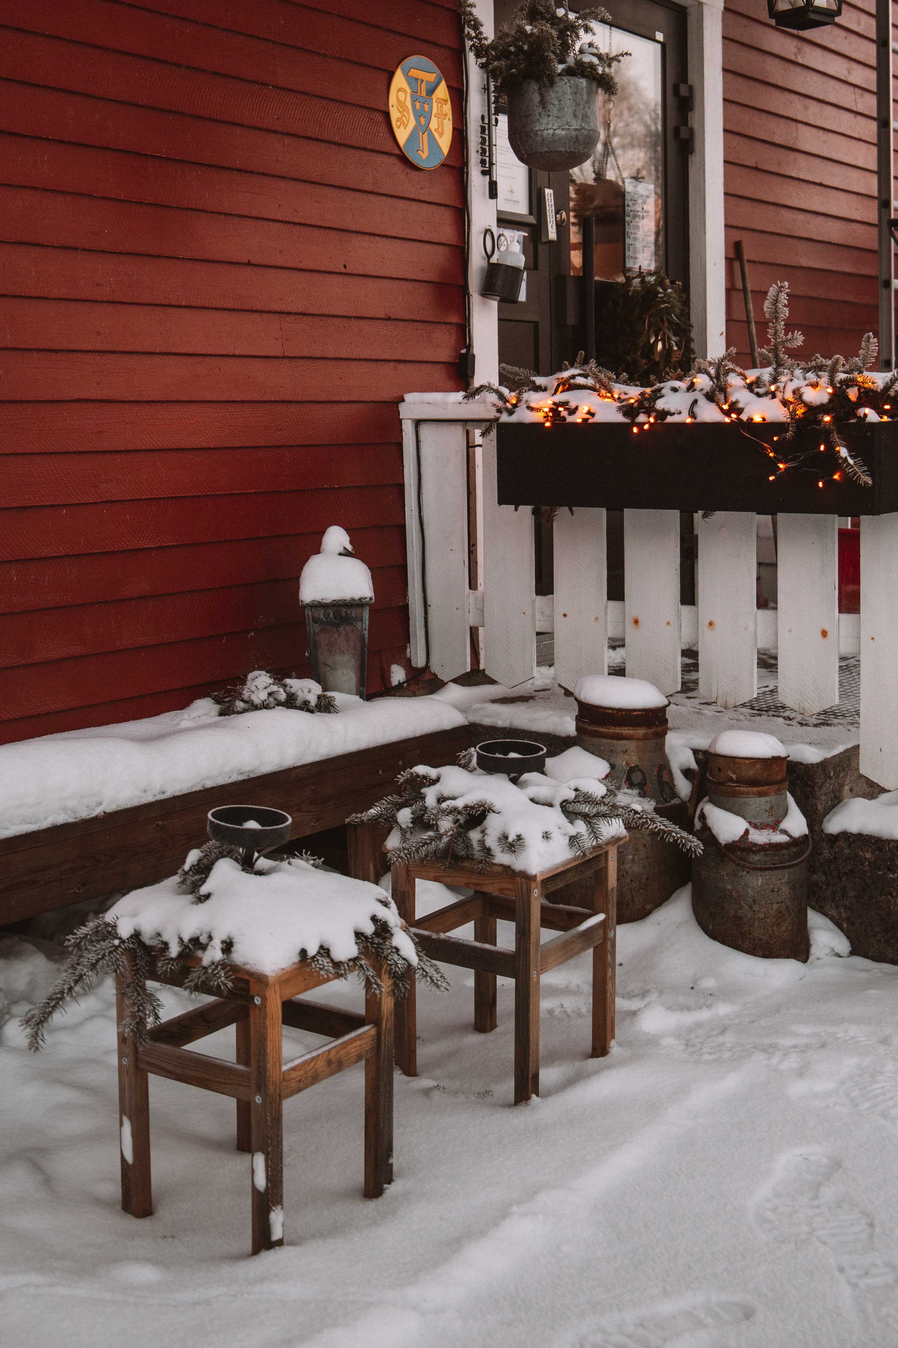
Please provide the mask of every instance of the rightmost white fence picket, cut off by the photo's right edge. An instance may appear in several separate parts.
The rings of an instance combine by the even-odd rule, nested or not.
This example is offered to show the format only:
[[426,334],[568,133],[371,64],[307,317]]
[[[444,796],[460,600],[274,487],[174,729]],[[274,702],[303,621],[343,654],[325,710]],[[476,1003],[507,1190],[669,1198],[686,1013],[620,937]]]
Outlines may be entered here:
[[898,515],[860,520],[860,771],[898,787]]

